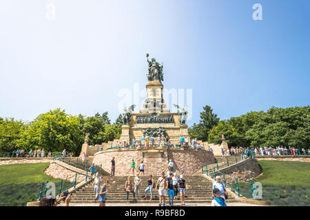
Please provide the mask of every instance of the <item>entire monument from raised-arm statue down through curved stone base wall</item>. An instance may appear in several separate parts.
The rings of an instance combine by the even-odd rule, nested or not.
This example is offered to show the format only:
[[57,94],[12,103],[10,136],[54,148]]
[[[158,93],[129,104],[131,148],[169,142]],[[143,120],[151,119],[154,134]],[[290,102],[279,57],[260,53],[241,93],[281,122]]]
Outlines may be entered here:
[[[144,175],[160,175],[167,172],[169,160],[174,162],[174,170],[183,175],[194,175],[201,170],[201,164],[213,163],[214,155],[210,151],[194,148],[176,147],[180,137],[189,137],[187,133],[187,107],[174,105],[177,112],[172,113],[167,109],[163,100],[163,64],[156,62],[155,58],[149,61],[147,54],[148,74],[147,76],[147,97],[142,109],[134,113],[136,105],[130,105],[123,109],[122,133],[119,140],[107,143],[103,151],[94,153],[94,164],[97,164],[110,172],[111,158],[114,157],[117,163],[116,175],[132,175],[132,171],[125,168],[132,159],[145,164]],[[133,140],[141,140],[143,135],[149,137],[169,137],[174,147],[167,147],[165,144],[155,147],[111,147],[116,142],[124,140],[132,145]],[[190,140],[189,140],[190,141]]]

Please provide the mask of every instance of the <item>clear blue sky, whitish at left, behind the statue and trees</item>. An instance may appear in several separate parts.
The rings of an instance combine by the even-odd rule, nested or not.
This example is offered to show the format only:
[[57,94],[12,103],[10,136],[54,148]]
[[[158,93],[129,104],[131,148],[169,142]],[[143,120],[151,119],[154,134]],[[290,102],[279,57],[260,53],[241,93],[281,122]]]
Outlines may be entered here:
[[118,92],[147,83],[146,53],[163,62],[165,88],[192,89],[189,125],[205,104],[221,119],[304,106],[309,27],[309,0],[1,1],[0,117],[60,107],[114,121]]

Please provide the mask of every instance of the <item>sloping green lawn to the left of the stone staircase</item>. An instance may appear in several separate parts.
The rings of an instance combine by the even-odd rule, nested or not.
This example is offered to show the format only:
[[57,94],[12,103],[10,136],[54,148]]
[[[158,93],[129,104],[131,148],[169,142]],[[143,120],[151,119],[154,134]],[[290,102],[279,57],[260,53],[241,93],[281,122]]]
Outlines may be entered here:
[[[1,165],[0,206],[25,206],[28,201],[38,199],[41,182],[61,181],[44,173],[49,165],[50,163]],[[70,183],[63,182],[64,187],[68,184]]]

